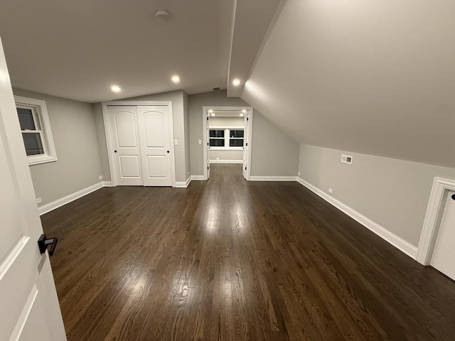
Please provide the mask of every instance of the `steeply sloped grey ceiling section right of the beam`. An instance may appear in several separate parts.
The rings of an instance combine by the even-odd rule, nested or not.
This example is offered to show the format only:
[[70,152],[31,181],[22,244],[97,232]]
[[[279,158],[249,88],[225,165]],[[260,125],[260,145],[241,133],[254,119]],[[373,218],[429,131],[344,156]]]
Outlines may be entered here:
[[287,0],[242,99],[304,144],[455,167],[455,1]]

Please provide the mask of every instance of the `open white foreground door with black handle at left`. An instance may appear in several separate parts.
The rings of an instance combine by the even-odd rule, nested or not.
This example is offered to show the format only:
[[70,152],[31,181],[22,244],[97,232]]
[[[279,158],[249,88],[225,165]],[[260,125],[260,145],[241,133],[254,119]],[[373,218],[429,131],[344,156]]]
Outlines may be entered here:
[[[0,341],[66,340],[0,41]],[[58,252],[58,249],[57,249]]]

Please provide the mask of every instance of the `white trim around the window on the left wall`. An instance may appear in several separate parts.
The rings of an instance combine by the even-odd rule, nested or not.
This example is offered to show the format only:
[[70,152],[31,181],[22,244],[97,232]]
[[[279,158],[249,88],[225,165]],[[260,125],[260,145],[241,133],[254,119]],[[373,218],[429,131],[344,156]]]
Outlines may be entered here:
[[43,150],[45,153],[27,156],[28,166],[57,161],[57,152],[55,151],[55,144],[48,117],[48,107],[46,107],[45,101],[21,96],[14,96],[14,101],[16,102],[16,107],[32,107],[34,114],[38,115],[38,117],[33,118],[37,119],[39,122],[39,130],[41,130]]

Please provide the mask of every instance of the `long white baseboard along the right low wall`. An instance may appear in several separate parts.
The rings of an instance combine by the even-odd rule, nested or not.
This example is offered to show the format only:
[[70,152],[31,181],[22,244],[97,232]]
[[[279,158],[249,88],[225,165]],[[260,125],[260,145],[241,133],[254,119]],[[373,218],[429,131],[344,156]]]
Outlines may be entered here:
[[406,242],[404,239],[398,237],[396,234],[393,234],[392,232],[380,226],[379,224],[376,224],[375,222],[373,222],[373,220],[370,220],[364,215],[361,215],[359,212],[343,204],[343,202],[336,200],[334,197],[331,197],[331,195],[328,195],[319,188],[314,187],[314,185],[311,185],[311,183],[306,182],[304,179],[297,177],[297,182],[300,183],[301,185],[304,185],[306,188],[322,197],[323,200],[326,200],[326,202],[329,202],[330,204],[338,208],[338,210],[341,210],[341,212],[346,213],[346,215],[353,218],[353,220],[356,220],[357,222],[360,222],[360,224],[363,224],[363,226],[365,226],[367,229],[370,229],[370,231],[375,232],[375,234],[378,234],[379,237],[385,239],[385,241],[389,242],[397,249],[400,249],[405,254],[410,256],[412,259],[416,259],[417,247],[414,247],[414,245]]

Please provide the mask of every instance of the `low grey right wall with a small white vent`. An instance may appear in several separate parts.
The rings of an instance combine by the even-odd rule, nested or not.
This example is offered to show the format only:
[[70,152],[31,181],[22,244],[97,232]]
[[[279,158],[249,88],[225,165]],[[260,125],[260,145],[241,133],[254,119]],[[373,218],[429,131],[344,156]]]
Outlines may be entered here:
[[[353,164],[341,163],[341,153]],[[301,144],[300,177],[418,246],[434,177],[455,180],[455,169]]]

